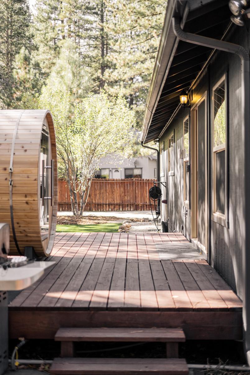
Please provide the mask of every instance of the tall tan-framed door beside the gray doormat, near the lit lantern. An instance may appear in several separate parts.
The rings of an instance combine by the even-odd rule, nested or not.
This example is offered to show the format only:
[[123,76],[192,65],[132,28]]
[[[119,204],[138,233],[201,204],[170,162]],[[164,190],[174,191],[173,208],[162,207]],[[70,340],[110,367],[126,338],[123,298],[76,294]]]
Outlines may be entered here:
[[191,237],[207,253],[206,96],[191,110]]

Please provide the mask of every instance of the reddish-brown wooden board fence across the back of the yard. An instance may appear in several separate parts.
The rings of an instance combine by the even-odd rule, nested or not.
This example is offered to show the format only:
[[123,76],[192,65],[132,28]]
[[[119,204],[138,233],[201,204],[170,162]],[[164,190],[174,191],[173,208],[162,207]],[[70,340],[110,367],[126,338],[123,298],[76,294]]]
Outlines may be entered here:
[[[93,178],[84,211],[144,211],[150,210],[148,191],[153,180],[143,178]],[[71,211],[66,181],[58,181],[58,211]]]

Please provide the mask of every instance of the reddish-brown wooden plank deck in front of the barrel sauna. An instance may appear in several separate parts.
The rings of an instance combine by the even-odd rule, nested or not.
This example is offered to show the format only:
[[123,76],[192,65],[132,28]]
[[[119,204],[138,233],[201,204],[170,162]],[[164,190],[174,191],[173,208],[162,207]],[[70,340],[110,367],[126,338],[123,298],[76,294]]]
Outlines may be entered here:
[[56,264],[9,305],[10,337],[60,327],[182,327],[187,339],[241,339],[242,303],[206,261],[160,260],[173,233],[58,233]]

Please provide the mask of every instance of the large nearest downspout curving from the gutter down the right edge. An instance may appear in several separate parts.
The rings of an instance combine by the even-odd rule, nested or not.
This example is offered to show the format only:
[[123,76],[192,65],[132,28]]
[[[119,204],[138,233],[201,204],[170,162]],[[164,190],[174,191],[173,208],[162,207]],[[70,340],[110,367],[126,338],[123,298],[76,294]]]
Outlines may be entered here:
[[[242,187],[240,204],[241,223],[239,231],[242,247],[242,297],[243,297],[243,339],[248,365],[250,365],[250,230],[248,213],[250,210],[250,75],[249,54],[240,46],[222,40],[186,33],[181,29],[180,20],[172,18],[173,31],[184,42],[230,52],[241,58],[241,134],[242,134]],[[240,275],[239,275],[240,276]]]

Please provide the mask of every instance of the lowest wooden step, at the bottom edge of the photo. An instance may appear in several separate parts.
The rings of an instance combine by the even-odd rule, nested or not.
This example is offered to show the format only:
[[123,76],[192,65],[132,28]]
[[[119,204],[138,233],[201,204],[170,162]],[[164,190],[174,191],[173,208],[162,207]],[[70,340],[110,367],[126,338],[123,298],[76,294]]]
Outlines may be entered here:
[[185,359],[141,358],[55,358],[50,368],[54,375],[184,375]]

